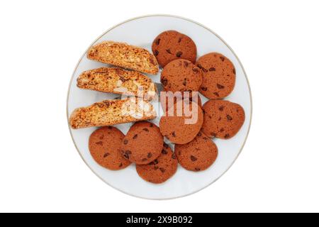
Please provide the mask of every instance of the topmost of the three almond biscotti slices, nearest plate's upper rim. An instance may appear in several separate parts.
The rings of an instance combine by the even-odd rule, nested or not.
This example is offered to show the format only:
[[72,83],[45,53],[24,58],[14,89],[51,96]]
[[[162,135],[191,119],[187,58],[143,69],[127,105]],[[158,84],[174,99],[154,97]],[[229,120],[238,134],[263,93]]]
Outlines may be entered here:
[[149,74],[157,74],[158,72],[158,63],[154,55],[148,50],[127,43],[113,41],[98,43],[89,48],[87,57],[91,60],[130,70]]

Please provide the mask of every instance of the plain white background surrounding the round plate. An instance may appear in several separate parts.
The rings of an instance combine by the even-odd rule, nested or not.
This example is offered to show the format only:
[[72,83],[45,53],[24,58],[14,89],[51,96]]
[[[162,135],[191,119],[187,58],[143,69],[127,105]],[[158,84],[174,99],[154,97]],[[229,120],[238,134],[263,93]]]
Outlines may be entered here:
[[[0,211],[319,211],[317,1],[1,1]],[[104,31],[150,13],[218,33],[252,87],[252,127],[235,165],[181,199],[108,187],[74,148],[69,79]]]

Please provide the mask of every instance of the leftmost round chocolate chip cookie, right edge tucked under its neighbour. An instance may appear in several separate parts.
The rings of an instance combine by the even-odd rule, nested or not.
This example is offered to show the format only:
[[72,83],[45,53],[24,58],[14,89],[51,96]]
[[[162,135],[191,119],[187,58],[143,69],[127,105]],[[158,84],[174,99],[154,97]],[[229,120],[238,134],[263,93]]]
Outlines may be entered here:
[[91,133],[89,150],[94,160],[108,170],[121,170],[130,165],[120,152],[123,138],[123,133],[112,126]]

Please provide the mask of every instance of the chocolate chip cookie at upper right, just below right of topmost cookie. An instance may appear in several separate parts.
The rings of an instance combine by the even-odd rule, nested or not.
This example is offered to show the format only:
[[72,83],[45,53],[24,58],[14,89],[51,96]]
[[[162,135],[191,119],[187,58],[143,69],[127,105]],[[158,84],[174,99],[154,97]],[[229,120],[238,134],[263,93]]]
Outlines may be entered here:
[[208,99],[222,99],[235,87],[236,71],[230,60],[217,52],[211,52],[196,62],[203,71],[203,83],[199,92]]

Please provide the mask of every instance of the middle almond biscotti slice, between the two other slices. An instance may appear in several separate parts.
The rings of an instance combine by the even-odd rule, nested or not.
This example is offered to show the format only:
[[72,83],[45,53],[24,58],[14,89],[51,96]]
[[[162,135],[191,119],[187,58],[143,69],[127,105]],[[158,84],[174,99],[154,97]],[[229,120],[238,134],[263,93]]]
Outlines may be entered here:
[[99,92],[138,96],[153,99],[156,95],[155,85],[144,74],[120,68],[101,67],[82,72],[77,78],[77,87]]

